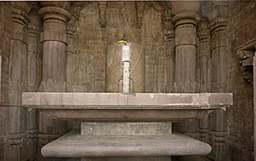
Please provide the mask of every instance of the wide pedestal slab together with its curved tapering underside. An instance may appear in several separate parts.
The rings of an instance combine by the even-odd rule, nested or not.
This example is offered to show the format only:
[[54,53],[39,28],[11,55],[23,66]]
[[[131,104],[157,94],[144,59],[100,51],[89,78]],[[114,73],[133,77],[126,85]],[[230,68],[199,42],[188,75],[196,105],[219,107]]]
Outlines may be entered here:
[[22,106],[77,122],[177,122],[233,104],[231,93],[24,92]]

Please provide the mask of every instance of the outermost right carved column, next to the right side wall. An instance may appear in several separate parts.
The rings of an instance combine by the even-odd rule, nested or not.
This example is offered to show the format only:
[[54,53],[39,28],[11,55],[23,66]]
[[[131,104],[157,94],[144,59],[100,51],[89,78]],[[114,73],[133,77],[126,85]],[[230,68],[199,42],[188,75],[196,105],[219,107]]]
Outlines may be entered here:
[[[228,37],[226,34],[228,2],[209,1],[202,7],[202,14],[207,16],[210,29],[210,92],[226,92],[227,90],[227,53]],[[226,160],[226,112],[214,111],[209,114],[210,140],[212,142],[211,156],[216,160]]]

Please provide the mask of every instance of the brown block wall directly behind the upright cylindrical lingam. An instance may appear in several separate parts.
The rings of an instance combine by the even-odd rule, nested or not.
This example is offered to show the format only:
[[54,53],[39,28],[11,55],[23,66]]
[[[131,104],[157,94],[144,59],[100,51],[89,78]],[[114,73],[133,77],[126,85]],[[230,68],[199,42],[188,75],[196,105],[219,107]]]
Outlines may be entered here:
[[105,91],[107,45],[127,38],[145,50],[146,92],[164,92],[165,39],[161,13],[145,4],[142,26],[136,26],[134,2],[107,2],[106,28],[100,28],[98,2],[83,6],[74,36],[74,91]]

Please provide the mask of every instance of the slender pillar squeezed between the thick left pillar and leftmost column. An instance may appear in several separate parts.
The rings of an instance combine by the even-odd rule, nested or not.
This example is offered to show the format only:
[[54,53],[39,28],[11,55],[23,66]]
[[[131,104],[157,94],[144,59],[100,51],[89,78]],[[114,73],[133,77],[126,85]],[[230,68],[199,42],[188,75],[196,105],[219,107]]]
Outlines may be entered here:
[[[30,13],[29,38],[28,38],[28,80],[27,91],[37,91],[37,62],[38,62],[38,23],[37,13]],[[32,110],[28,114],[26,134],[28,136],[28,155],[30,160],[37,157],[38,111]]]

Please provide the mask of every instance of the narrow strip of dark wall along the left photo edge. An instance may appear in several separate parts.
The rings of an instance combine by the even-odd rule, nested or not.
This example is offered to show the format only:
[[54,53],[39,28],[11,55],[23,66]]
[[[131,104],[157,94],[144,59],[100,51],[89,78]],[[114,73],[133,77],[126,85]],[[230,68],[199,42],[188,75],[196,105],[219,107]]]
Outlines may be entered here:
[[[12,30],[12,6],[10,3],[0,3],[0,55],[2,55],[1,74],[1,105],[8,102],[8,78]],[[4,160],[5,136],[8,123],[8,110],[0,106],[0,160]]]

